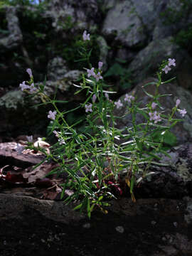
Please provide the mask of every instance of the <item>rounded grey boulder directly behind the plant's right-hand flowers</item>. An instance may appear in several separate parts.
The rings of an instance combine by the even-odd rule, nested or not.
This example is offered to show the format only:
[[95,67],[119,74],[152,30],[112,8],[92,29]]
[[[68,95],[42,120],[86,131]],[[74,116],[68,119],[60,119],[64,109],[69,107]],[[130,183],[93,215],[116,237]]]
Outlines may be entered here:
[[[130,95],[134,94],[137,95],[137,101],[141,102],[140,107],[146,106],[147,103],[149,103],[150,98],[148,95],[145,94],[145,92],[142,90],[142,86],[145,85],[148,82],[156,82],[157,80],[155,78],[149,78],[144,80],[144,82],[139,83],[132,92],[130,92]],[[154,95],[154,92],[156,90],[155,85],[148,85],[146,87],[146,91],[149,92],[151,95]],[[191,142],[192,141],[192,109],[191,109],[191,100],[192,95],[191,92],[184,89],[183,87],[178,87],[176,83],[169,83],[166,85],[161,85],[159,87],[159,92],[161,94],[171,94],[173,96],[166,96],[161,97],[160,103],[164,107],[165,110],[168,110],[170,112],[171,108],[176,105],[176,100],[179,98],[181,99],[181,105],[179,107],[181,109],[186,108],[187,114],[186,117],[183,118],[183,122],[179,122],[176,124],[173,129],[171,129],[171,132],[173,132],[176,135],[176,138],[178,140],[178,144],[183,144],[184,142]],[[173,93],[174,92],[174,93]],[[115,114],[117,116],[122,116],[126,112],[127,103],[124,102],[124,96],[120,98],[120,100],[123,103],[123,107],[121,110],[115,110]],[[181,119],[181,114],[176,112],[176,118]],[[144,117],[140,114],[137,114],[137,122],[142,123],[144,121]],[[123,119],[119,119],[117,126],[119,128],[122,127],[130,127],[132,126],[131,122],[131,116],[128,114]]]

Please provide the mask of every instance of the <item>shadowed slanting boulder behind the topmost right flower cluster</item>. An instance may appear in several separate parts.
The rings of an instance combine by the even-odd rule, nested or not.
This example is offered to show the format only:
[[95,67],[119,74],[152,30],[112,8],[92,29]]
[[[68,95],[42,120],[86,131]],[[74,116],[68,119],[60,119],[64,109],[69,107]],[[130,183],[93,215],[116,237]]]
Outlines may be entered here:
[[149,75],[156,73],[162,61],[168,58],[176,59],[176,68],[172,68],[171,72],[165,76],[165,79],[177,75],[179,85],[192,89],[192,59],[186,50],[173,43],[171,36],[151,41],[148,46],[137,53],[129,65],[134,82],[141,82]]

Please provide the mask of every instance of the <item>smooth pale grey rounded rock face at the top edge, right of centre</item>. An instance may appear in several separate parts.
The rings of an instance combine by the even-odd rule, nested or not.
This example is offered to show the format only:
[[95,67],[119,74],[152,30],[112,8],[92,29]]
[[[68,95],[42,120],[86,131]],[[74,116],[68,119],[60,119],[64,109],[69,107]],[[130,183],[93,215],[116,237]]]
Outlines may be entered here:
[[107,13],[102,33],[123,46],[138,46],[146,41],[142,21],[137,16],[132,1],[117,1]]

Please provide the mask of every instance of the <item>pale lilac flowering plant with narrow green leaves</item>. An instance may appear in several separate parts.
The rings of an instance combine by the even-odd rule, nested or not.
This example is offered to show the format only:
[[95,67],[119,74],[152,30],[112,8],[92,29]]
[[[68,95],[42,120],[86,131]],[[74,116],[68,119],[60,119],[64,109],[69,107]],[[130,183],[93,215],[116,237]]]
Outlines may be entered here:
[[[82,36],[83,41],[90,41],[90,34],[85,31]],[[85,47],[86,47],[85,43]],[[85,50],[86,52],[86,50]],[[89,60],[89,58],[87,58]],[[119,117],[114,116],[114,109],[123,106],[121,100],[113,102],[110,95],[115,92],[104,89],[102,78],[102,65],[99,61],[98,67],[94,68],[87,63],[89,68],[85,68],[87,74],[82,75],[80,85],[75,85],[78,91],[86,92],[87,99],[77,108],[82,108],[87,114],[85,119],[80,119],[73,125],[69,125],[65,120],[69,111],[61,112],[57,107],[57,100],[51,100],[43,91],[43,87],[35,87],[33,75],[30,69],[27,70],[31,80],[26,85],[24,81],[20,87],[29,93],[36,92],[36,95],[43,95],[43,104],[51,104],[54,111],[48,112],[48,119],[51,121],[51,133],[55,134],[58,142],[50,147],[50,154],[47,159],[57,162],[59,168],[52,171],[65,173],[65,183],[62,184],[63,198],[65,190],[70,188],[73,193],[65,198],[65,203],[73,200],[80,200],[80,204],[75,209],[87,209],[90,217],[95,206],[105,210],[108,206],[106,198],[117,198],[122,195],[122,188],[119,185],[122,174],[125,174],[124,181],[129,186],[129,191],[134,198],[134,186],[138,185],[142,179],[151,174],[147,173],[151,163],[159,164],[158,153],[166,154],[163,149],[163,142],[166,133],[181,119],[175,119],[176,111],[182,116],[186,110],[179,110],[180,100],[176,100],[176,105],[172,108],[171,114],[164,114],[164,108],[159,102],[160,97],[166,95],[159,94],[159,86],[163,86],[171,80],[162,82],[162,73],[168,73],[172,65],[176,65],[174,59],[165,61],[157,73],[158,82],[150,82],[144,85],[144,92],[151,98],[144,108],[139,108],[137,95],[124,97],[124,104],[127,106],[127,114],[132,115],[132,126],[117,128]],[[86,78],[87,76],[87,78]],[[154,95],[146,91],[147,85],[156,87]],[[70,111],[73,111],[70,110]],[[145,121],[137,124],[136,114],[142,114]],[[78,132],[75,129],[77,124],[85,122],[85,130]],[[161,141],[154,142],[153,134],[161,133]],[[161,165],[161,164],[159,164]],[[144,166],[141,171],[140,166]]]

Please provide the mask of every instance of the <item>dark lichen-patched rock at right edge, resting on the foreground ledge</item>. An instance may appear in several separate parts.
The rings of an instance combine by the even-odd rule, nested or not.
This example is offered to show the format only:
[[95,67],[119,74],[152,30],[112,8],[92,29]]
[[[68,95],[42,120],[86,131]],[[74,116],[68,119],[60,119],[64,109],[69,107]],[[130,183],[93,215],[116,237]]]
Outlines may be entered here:
[[[165,166],[150,167],[155,174],[144,178],[142,186],[137,188],[140,196],[161,196],[164,198],[192,197],[192,144],[182,144],[168,151],[168,156],[161,156],[160,163]],[[190,212],[190,208],[189,208]],[[191,212],[190,212],[191,214]]]

